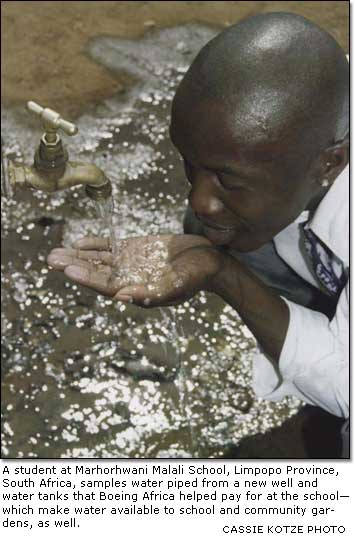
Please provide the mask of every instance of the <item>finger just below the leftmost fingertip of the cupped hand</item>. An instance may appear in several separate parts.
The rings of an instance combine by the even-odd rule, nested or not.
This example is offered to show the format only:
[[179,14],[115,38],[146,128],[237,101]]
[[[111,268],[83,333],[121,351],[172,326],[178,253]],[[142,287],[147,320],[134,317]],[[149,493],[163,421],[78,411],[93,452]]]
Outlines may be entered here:
[[92,288],[105,296],[114,296],[120,289],[120,285],[112,274],[97,271],[93,267],[70,265],[64,269],[64,274],[82,286]]

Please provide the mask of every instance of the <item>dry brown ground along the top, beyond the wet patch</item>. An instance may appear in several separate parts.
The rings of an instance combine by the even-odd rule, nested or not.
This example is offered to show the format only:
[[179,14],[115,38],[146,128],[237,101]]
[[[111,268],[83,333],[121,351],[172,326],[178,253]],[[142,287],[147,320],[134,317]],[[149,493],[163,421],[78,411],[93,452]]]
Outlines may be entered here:
[[259,12],[290,11],[331,33],[348,51],[348,2],[2,2],[2,102],[28,92],[71,118],[85,103],[110,97],[130,83],[87,54],[89,39],[141,37],[154,27],[200,22],[218,28]]

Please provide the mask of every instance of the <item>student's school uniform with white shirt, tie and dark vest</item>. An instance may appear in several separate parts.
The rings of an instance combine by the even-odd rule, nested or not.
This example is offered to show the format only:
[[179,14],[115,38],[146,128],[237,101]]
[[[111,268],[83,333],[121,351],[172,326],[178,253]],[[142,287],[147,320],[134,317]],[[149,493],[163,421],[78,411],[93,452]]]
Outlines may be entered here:
[[[189,207],[186,233],[201,226]],[[283,298],[290,320],[278,363],[258,345],[253,386],[258,397],[295,396],[346,419],[349,456],[349,167],[314,215],[307,211],[257,251],[229,250]],[[272,317],[270,317],[272,321]]]

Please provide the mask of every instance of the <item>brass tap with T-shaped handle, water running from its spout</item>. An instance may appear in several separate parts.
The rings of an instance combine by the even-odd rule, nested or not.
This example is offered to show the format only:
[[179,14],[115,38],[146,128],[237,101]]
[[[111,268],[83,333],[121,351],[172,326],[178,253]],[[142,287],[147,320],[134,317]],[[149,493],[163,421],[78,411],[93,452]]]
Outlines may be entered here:
[[27,108],[41,117],[45,133],[31,167],[9,160],[8,174],[11,186],[52,193],[85,185],[86,194],[93,200],[110,197],[111,182],[99,167],[92,163],[68,161],[68,152],[57,130],[61,129],[73,136],[77,134],[78,127],[62,119],[52,109],[44,109],[33,101],[27,103]]

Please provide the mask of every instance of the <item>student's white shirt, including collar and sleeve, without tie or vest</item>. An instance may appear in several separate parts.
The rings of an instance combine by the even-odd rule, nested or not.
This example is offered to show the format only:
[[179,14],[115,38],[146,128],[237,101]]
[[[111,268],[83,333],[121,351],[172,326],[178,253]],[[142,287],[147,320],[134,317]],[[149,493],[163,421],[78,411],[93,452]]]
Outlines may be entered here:
[[[280,257],[304,280],[323,289],[306,256],[300,224],[308,213],[281,231],[274,243]],[[349,168],[339,175],[308,226],[349,267]],[[253,363],[258,397],[295,396],[336,416],[349,416],[349,282],[341,292],[334,318],[282,298],[290,322],[279,363],[259,348]]]

